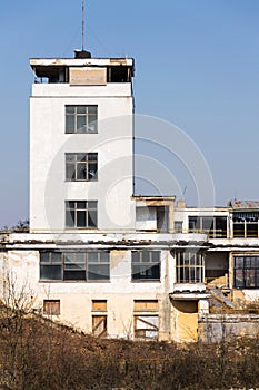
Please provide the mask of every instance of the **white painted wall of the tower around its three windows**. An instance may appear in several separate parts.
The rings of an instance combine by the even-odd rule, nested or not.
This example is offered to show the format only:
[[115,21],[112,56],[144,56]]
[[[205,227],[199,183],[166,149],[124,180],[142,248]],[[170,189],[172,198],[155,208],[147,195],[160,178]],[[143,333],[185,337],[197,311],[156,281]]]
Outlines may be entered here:
[[[66,105],[98,105],[98,134],[64,133]],[[33,85],[30,101],[31,232],[63,231],[64,201],[98,201],[98,228],[132,230],[132,125],[130,84],[71,87]],[[97,152],[98,182],[64,181],[64,153]]]

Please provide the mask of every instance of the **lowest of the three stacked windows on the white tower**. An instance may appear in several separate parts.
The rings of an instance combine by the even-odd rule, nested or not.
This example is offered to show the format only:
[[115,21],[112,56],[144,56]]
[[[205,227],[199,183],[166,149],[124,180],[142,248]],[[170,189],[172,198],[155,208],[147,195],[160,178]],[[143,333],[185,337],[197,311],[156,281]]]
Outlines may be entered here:
[[66,227],[97,227],[97,201],[66,201]]

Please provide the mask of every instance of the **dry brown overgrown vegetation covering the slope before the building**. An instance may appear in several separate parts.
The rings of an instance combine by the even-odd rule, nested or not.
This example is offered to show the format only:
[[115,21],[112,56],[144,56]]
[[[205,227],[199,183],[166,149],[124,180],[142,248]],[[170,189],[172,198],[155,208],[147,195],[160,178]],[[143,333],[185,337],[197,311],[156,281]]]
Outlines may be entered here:
[[98,340],[22,306],[0,309],[0,388],[230,389],[259,384],[257,339],[177,345]]

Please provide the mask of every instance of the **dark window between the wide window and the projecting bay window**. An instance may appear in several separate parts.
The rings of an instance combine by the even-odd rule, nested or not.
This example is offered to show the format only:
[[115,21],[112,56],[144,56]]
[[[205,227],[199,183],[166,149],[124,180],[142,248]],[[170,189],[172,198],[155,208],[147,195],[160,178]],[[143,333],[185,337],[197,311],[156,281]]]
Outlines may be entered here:
[[133,251],[132,281],[160,281],[160,251]]

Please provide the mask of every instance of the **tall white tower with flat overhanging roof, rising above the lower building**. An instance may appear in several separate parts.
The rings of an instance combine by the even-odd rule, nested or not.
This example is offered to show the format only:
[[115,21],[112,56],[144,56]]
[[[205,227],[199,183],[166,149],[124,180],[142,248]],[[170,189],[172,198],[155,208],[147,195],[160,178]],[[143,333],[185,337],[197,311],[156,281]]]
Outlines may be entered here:
[[31,232],[133,228],[133,59],[30,65]]

